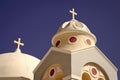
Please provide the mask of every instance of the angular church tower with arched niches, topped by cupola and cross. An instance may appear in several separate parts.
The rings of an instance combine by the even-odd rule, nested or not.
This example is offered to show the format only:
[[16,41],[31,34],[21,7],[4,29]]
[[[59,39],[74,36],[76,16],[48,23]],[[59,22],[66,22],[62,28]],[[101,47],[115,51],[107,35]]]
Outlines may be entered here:
[[52,38],[52,47],[34,70],[34,80],[118,80],[117,68],[96,46],[96,36],[72,19]]

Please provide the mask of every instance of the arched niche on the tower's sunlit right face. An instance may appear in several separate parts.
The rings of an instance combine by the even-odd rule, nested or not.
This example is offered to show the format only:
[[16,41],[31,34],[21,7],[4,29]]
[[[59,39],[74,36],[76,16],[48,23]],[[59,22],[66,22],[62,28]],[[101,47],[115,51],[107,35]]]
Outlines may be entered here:
[[89,62],[81,70],[81,80],[109,80],[109,78],[100,65]]

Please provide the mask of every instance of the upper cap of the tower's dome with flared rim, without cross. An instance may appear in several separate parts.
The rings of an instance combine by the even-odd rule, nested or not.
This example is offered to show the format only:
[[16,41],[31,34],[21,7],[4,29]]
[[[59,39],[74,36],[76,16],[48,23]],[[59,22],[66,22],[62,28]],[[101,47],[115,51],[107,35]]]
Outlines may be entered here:
[[91,33],[91,31],[87,28],[87,26],[84,23],[74,19],[74,20],[64,22],[60,26],[57,33],[52,38],[52,44],[55,45],[54,41],[56,38],[58,38],[58,36],[61,36],[64,34],[73,34],[73,33],[90,36],[93,39],[94,43],[96,43],[95,35]]

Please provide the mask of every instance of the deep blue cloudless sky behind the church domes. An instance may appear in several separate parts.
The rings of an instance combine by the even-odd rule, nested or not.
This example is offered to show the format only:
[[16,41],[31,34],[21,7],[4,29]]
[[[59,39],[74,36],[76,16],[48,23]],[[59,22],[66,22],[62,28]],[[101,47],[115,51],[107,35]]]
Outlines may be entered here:
[[42,59],[59,26],[71,20],[71,8],[96,35],[98,48],[120,69],[119,0],[0,0],[0,53],[14,51],[13,40],[21,37],[22,52]]

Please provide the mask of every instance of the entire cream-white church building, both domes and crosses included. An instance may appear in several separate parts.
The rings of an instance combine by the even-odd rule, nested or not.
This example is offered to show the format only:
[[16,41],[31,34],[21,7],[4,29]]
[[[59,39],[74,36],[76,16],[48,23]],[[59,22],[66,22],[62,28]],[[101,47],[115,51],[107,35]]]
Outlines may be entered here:
[[52,38],[52,47],[39,60],[22,53],[0,54],[0,80],[118,80],[118,69],[96,46],[96,36],[76,20],[64,22]]

